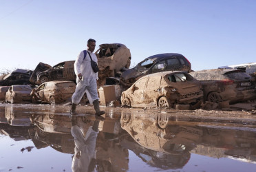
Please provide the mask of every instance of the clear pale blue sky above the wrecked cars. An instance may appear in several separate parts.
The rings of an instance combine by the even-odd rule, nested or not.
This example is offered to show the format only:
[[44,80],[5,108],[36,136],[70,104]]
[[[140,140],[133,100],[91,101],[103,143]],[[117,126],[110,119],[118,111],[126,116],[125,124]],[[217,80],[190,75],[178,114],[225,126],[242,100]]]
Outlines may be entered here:
[[0,0],[0,72],[75,60],[89,38],[127,45],[131,65],[166,52],[193,70],[256,62],[256,1]]

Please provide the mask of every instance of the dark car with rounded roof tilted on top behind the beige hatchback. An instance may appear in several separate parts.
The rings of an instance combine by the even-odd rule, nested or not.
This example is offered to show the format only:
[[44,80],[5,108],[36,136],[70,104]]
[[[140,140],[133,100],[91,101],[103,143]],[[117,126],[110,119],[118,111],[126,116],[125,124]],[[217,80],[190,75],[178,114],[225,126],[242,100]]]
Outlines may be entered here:
[[122,72],[120,82],[129,87],[138,78],[147,74],[173,70],[191,72],[191,63],[182,54],[156,54],[138,63],[136,67]]

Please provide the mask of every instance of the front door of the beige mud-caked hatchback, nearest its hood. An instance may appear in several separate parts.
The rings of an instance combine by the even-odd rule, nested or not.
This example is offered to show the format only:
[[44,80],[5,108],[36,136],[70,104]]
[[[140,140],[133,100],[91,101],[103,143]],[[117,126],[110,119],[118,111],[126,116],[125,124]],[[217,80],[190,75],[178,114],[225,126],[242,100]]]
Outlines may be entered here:
[[131,104],[133,105],[141,105],[144,104],[144,89],[147,82],[148,77],[140,78],[135,84],[134,84],[134,92],[131,95]]

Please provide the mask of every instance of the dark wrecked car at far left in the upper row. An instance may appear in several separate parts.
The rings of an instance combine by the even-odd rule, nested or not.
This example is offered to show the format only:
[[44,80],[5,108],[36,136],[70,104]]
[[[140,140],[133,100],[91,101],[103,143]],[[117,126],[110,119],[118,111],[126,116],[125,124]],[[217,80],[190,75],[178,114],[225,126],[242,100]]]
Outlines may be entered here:
[[32,74],[31,70],[27,69],[16,69],[10,74],[3,76],[0,80],[0,85],[10,86],[10,85],[28,85],[30,84],[30,76]]

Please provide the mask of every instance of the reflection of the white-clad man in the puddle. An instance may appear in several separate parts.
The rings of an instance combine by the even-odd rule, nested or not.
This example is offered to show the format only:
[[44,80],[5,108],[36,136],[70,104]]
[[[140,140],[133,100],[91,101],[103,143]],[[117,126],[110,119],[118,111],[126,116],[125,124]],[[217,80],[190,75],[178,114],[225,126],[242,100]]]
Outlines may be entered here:
[[72,116],[71,133],[75,142],[72,171],[94,171],[96,138],[100,121],[96,118],[94,124],[89,127],[86,133],[83,133],[78,127],[77,118],[78,116]]

